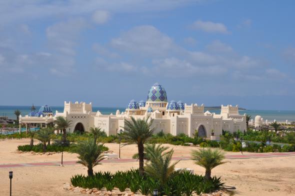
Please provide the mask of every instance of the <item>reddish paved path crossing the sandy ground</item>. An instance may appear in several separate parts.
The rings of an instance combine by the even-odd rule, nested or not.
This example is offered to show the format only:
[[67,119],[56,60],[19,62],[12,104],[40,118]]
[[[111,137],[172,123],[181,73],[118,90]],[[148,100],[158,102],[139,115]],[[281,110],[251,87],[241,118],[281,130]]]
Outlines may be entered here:
[[[247,153],[247,154],[227,154],[225,159],[244,159],[244,158],[267,158],[267,157],[281,157],[281,156],[295,156],[295,152],[276,152],[276,153]],[[172,160],[189,160],[188,156],[173,157]],[[102,163],[112,162],[136,162],[136,159],[132,158],[120,158],[120,159],[104,159]],[[65,160],[64,165],[78,164],[76,160]],[[52,162],[30,162],[30,163],[15,163],[15,164],[0,164],[0,168],[13,168],[13,167],[31,167],[31,166],[57,166],[60,165],[59,161]]]

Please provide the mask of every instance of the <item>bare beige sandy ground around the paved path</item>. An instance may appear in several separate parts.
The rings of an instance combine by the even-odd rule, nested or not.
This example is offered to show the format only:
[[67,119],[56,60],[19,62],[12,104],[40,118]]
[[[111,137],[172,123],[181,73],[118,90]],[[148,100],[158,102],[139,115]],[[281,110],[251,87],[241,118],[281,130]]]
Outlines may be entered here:
[[[60,160],[60,154],[33,155],[15,152],[17,145],[27,143],[29,139],[0,140],[0,164]],[[118,153],[118,144],[106,145]],[[175,156],[187,156],[192,149],[196,149],[190,146],[168,146],[173,147]],[[136,151],[135,145],[123,146],[121,157],[130,158]],[[64,153],[64,160],[75,159],[76,154]],[[295,195],[295,156],[228,159],[228,161],[215,167],[212,175],[222,176],[226,185],[235,186],[236,191],[232,193],[233,195]],[[138,162],[103,163],[95,166],[94,170],[116,171],[131,167],[138,167]],[[176,167],[189,167],[194,169],[195,173],[204,173],[204,169],[191,160],[181,160]],[[81,195],[64,191],[62,184],[69,181],[73,174],[86,174],[86,168],[81,165],[0,168],[0,195],[9,194],[9,170],[13,171],[12,195]]]

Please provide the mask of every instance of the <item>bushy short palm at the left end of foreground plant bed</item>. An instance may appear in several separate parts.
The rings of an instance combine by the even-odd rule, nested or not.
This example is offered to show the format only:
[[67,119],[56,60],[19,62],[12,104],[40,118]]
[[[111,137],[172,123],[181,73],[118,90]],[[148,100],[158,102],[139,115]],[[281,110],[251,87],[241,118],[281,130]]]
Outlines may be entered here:
[[97,145],[93,139],[79,141],[77,145],[71,149],[72,153],[77,153],[80,163],[87,167],[88,176],[93,176],[93,167],[100,164],[104,159],[103,144]]

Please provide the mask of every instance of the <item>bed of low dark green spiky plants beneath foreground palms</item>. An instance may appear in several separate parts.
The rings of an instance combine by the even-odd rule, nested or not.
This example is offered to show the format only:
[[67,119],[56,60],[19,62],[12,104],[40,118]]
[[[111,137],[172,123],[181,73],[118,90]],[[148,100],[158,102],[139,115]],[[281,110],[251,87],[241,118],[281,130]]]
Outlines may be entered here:
[[115,187],[123,192],[129,188],[133,193],[152,195],[154,189],[158,190],[159,195],[192,195],[208,193],[221,188],[223,183],[220,177],[212,177],[205,180],[202,175],[191,174],[189,171],[174,171],[171,177],[164,183],[151,176],[141,176],[138,170],[97,172],[93,176],[74,175],[70,178],[72,186],[82,188],[97,188],[98,190],[113,190]]

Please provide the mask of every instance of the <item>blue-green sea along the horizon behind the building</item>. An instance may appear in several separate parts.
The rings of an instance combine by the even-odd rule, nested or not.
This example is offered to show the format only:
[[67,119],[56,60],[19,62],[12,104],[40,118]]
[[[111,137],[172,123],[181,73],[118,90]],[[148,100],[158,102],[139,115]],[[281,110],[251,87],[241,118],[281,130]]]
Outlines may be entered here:
[[[39,109],[40,106],[36,106],[36,110]],[[63,106],[50,106],[51,110],[55,113],[63,111]],[[21,111],[21,115],[27,115],[30,112],[31,106],[9,106],[9,105],[0,105],[0,116],[7,116],[10,119],[16,119],[14,115],[14,111],[19,109]],[[120,112],[124,111],[124,107],[103,107],[103,106],[92,106],[92,111],[96,112],[99,110],[102,114],[115,114],[116,110],[119,109]],[[204,109],[204,111],[209,110],[211,113],[215,112],[216,114],[220,113],[220,109]],[[256,115],[260,115],[264,120],[277,120],[277,121],[285,121],[288,122],[295,121],[295,110],[261,110],[261,109],[246,109],[239,110],[239,114],[247,113],[251,115],[251,118],[255,118]]]

